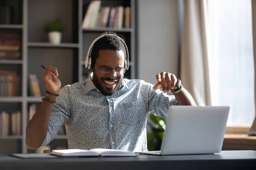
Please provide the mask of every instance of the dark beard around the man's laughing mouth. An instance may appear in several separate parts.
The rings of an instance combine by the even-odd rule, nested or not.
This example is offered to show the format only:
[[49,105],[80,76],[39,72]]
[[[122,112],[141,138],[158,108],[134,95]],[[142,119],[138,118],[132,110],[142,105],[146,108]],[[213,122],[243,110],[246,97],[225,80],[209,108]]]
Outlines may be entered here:
[[[94,71],[93,71],[93,72],[94,72]],[[101,80],[102,80],[102,81],[103,81],[103,80],[107,80],[107,81],[116,81],[116,86],[115,86],[115,88],[103,88],[103,85],[102,85],[102,81],[101,81]],[[120,80],[121,80],[121,79],[118,78],[118,77],[116,77],[116,78],[114,78],[114,79],[111,79],[111,78],[109,78],[109,77],[106,77],[106,78],[102,77],[102,78],[99,79],[99,77],[97,77],[96,74],[93,74],[93,83],[94,83],[94,85],[95,85],[96,88],[97,88],[103,95],[105,95],[105,96],[112,96],[112,95],[116,92]]]

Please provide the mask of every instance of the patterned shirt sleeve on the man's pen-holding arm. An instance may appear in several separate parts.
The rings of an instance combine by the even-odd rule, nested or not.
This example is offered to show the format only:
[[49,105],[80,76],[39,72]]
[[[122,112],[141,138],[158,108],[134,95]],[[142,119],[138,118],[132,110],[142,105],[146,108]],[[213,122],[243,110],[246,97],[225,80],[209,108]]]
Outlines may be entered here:
[[54,139],[60,128],[69,121],[71,116],[70,86],[61,88],[58,94],[49,117],[47,135],[41,147],[46,146]]

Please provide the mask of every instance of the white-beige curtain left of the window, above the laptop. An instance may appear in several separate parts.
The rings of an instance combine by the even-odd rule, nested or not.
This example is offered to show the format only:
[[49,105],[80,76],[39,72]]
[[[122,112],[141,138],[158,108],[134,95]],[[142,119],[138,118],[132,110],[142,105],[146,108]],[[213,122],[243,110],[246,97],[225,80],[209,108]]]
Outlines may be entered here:
[[211,105],[204,0],[183,1],[180,78],[197,105]]

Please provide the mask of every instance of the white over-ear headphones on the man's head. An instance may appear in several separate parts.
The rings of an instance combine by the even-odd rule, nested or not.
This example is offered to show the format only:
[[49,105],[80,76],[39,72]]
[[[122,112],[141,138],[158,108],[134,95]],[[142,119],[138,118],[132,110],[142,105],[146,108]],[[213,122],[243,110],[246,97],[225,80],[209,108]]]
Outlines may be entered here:
[[[93,65],[92,65],[92,59],[91,59],[91,52],[92,52],[92,48],[93,48],[93,45],[94,43],[99,40],[100,38],[102,37],[105,37],[106,35],[112,35],[112,36],[116,36],[118,37],[117,35],[114,35],[114,34],[104,34],[104,35],[101,35],[99,37],[97,37],[95,40],[93,40],[93,42],[91,43],[89,49],[88,49],[88,52],[87,52],[87,56],[86,56],[86,59],[85,59],[85,68],[92,68]],[[125,45],[125,51],[126,51],[126,57],[125,57],[125,65],[124,65],[124,68],[126,70],[128,70],[129,68],[129,54],[128,54],[128,48],[127,48],[127,45],[125,44],[125,42],[122,40],[122,38],[118,37]]]

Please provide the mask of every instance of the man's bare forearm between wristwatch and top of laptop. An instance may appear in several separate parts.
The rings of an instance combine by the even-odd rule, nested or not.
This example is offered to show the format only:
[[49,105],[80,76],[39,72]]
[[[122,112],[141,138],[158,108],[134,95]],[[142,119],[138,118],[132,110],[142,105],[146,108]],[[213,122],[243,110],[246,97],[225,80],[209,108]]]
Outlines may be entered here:
[[177,99],[178,105],[192,105],[196,106],[195,101],[191,94],[185,89],[182,88],[182,90],[179,93],[175,93],[175,98]]

